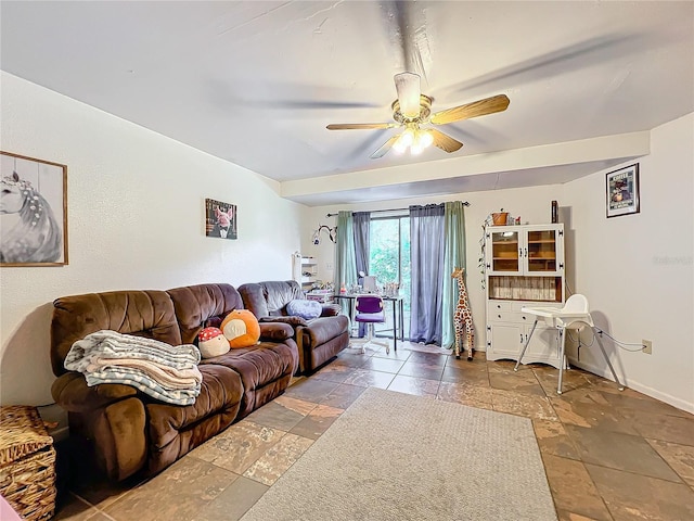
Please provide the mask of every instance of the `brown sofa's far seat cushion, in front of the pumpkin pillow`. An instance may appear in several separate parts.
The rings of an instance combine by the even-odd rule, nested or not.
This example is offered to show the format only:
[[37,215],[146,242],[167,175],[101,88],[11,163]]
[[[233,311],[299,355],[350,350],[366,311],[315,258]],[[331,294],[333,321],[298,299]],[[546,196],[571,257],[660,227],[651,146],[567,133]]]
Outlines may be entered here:
[[262,404],[256,405],[255,392],[268,384],[291,379],[298,368],[298,350],[293,340],[284,343],[260,342],[253,347],[232,350],[215,358],[201,361],[201,371],[206,365],[220,365],[241,374],[244,395],[240,417]]

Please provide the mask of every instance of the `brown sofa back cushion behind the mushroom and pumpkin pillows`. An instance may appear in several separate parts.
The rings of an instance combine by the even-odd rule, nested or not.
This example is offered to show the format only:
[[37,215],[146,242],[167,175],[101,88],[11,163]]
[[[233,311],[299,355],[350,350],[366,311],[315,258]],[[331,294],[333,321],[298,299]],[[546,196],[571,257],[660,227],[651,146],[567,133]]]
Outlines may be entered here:
[[180,327],[181,340],[192,344],[207,326],[219,327],[221,319],[234,309],[243,309],[243,302],[231,284],[197,284],[168,290]]

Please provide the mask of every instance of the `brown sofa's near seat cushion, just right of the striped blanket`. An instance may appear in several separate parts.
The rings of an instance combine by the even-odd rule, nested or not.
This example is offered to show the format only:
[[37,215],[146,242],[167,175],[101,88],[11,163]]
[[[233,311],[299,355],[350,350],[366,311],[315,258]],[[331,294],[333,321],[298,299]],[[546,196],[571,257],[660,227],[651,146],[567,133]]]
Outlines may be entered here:
[[146,404],[150,417],[150,444],[153,449],[163,449],[181,431],[192,428],[218,411],[239,409],[243,395],[240,374],[232,368],[215,364],[198,367],[203,374],[203,383],[200,396],[194,404],[184,407],[160,402]]

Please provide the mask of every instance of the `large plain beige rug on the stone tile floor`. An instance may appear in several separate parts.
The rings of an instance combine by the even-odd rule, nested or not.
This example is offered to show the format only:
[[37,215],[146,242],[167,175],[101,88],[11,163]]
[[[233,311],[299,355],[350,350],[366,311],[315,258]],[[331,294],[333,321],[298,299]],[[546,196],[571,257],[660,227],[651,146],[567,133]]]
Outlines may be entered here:
[[556,521],[527,418],[369,387],[242,521]]

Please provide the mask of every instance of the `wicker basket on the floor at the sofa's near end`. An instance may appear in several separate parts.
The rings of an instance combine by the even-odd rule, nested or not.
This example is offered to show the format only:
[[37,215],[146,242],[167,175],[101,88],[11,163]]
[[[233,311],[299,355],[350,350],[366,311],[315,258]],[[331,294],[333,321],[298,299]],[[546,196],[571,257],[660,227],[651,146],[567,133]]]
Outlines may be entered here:
[[24,519],[53,516],[55,450],[35,407],[0,407],[0,494]]

